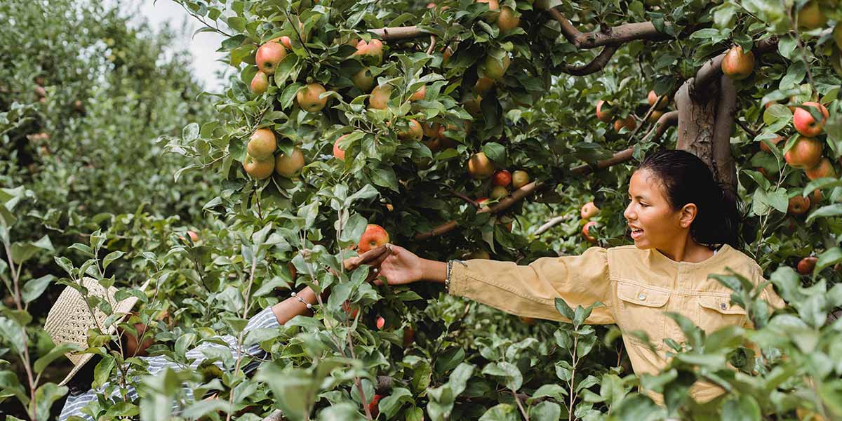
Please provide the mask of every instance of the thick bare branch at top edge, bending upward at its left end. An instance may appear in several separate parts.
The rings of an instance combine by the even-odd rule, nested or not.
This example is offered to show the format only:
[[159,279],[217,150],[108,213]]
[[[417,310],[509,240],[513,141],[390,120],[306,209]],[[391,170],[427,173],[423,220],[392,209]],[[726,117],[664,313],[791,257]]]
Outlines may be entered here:
[[[669,35],[658,32],[652,22],[621,24],[601,31],[579,32],[561,12],[549,10],[553,19],[562,25],[562,35],[576,48],[595,48],[603,45],[622,45],[633,40],[669,40]],[[669,25],[669,24],[666,24]]]

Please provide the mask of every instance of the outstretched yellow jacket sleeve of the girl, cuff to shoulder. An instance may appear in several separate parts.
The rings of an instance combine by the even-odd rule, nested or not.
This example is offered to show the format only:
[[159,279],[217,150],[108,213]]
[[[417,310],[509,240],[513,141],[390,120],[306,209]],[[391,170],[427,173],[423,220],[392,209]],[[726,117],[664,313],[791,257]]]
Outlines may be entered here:
[[571,308],[600,301],[585,321],[614,323],[614,297],[605,248],[589,248],[579,256],[538,258],[526,266],[514,262],[455,260],[450,270],[450,294],[523,317],[570,322],[556,310],[556,298]]

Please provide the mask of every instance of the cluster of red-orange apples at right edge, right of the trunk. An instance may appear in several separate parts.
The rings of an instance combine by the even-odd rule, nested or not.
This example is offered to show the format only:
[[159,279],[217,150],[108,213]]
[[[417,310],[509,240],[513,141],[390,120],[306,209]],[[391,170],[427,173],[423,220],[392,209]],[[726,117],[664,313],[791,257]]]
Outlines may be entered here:
[[[770,104],[767,104],[767,106]],[[807,111],[810,108],[818,110],[822,119],[816,120],[810,111]],[[823,142],[816,139],[816,136],[821,135],[824,131],[824,124],[828,118],[828,109],[824,105],[814,101],[808,101],[800,107],[795,108],[792,115],[792,125],[795,126],[798,137],[789,151],[784,154],[784,160],[792,168],[802,169],[807,179],[814,180],[825,177],[836,177],[834,164],[828,157],[823,157]],[[783,140],[783,136],[776,136],[770,139],[770,142],[777,146]],[[763,142],[760,143],[760,149],[765,152],[771,152],[769,147]],[[765,170],[761,172],[765,174]],[[814,191],[812,197],[813,204],[818,203],[818,200],[821,200],[821,192],[819,190]],[[796,195],[790,199],[787,212],[791,215],[802,215],[807,212],[810,205],[811,200],[809,197]]]

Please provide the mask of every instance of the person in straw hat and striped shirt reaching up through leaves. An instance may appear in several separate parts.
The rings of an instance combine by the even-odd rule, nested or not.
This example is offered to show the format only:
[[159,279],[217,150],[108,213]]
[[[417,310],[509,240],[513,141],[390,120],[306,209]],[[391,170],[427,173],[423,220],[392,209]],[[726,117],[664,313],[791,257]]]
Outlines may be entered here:
[[[383,245],[379,248],[374,248],[358,257],[347,258],[344,260],[344,268],[346,270],[353,270],[361,264],[369,264],[372,267],[369,278],[377,274],[376,266],[381,264],[382,260],[388,256],[386,253],[389,250],[388,245]],[[105,335],[111,335],[118,331],[117,324],[131,312],[131,309],[137,302],[137,297],[132,296],[122,301],[115,300],[115,287],[104,288],[97,280],[92,278],[83,278],[82,286],[88,290],[88,296],[97,297],[100,300],[109,301],[109,305],[114,309],[116,317],[114,322],[107,321],[107,316],[104,312],[99,311],[98,308],[93,308],[88,305],[88,300],[72,286],[68,286],[61,292],[54,306],[47,314],[45,322],[45,331],[50,334],[53,342],[56,345],[61,344],[75,344],[79,349],[88,348],[88,330],[97,329]],[[141,290],[145,289],[147,283],[141,286]],[[327,291],[322,294],[326,296]],[[303,314],[309,314],[312,306],[317,303],[316,293],[308,286],[300,292],[292,292],[290,298],[280,301],[274,306],[266,307],[263,311],[258,312],[255,316],[248,320],[244,332],[248,332],[258,328],[277,328],[289,321],[292,317]],[[120,335],[122,337],[122,335]],[[190,369],[195,370],[199,365],[206,360],[204,350],[216,348],[226,349],[230,351],[234,358],[237,358],[237,338],[232,335],[224,335],[219,337],[227,344],[227,347],[216,342],[204,342],[195,349],[190,349],[186,353],[186,358],[191,361],[189,365],[182,365],[177,362],[167,360],[163,356],[152,357],[138,357],[147,363],[147,370],[142,373],[130,372],[134,375],[151,374],[156,375],[163,370],[170,368],[173,370]],[[218,341],[217,341],[218,342]],[[249,373],[255,370],[260,362],[264,360],[266,352],[260,349],[258,344],[250,347],[240,348],[242,355],[251,358],[250,363],[245,365],[242,370]],[[97,397],[103,394],[109,386],[110,381],[106,381],[102,386],[92,388],[93,381],[93,367],[95,364],[88,364],[91,362],[94,354],[84,353],[67,353],[65,354],[73,365],[72,370],[64,378],[59,386],[67,385],[70,392],[67,395],[67,401],[64,408],[61,409],[59,421],[65,421],[72,416],[84,418],[93,421],[93,418],[86,413],[83,413],[83,408],[88,406],[90,402],[97,402]],[[127,355],[131,356],[131,355]],[[221,361],[215,361],[220,369],[223,369]],[[185,387],[187,396],[192,399],[192,391]],[[126,397],[130,401],[137,399],[137,391],[134,386],[126,387]],[[110,398],[119,399],[120,390],[115,390],[110,393]],[[177,405],[177,404],[176,404]]]

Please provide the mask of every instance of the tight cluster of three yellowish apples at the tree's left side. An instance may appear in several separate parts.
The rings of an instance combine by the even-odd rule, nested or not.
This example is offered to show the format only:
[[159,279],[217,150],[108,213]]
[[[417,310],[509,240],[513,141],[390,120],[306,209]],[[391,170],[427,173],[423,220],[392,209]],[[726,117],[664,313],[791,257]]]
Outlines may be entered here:
[[304,152],[295,147],[289,155],[274,152],[278,149],[278,142],[274,133],[269,129],[258,129],[248,139],[246,145],[246,159],[242,161],[242,168],[254,179],[267,179],[273,172],[291,179],[304,168]]

